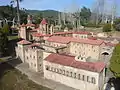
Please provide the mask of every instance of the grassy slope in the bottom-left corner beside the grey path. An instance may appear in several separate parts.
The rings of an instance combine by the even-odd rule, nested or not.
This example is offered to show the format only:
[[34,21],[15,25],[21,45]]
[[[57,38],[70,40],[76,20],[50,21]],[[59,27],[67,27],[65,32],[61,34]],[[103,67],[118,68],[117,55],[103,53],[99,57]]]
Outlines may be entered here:
[[8,64],[3,63],[0,68],[0,90],[50,90],[35,84]]

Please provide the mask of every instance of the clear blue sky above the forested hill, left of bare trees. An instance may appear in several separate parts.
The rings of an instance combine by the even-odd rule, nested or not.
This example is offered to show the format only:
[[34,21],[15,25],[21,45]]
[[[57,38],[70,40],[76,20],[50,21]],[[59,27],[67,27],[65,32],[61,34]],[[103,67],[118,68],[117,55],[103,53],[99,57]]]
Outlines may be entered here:
[[[86,6],[91,8],[95,0],[23,0],[20,3],[21,8],[32,9],[32,10],[58,10],[63,11],[64,9]],[[10,0],[0,0],[1,5],[9,5]],[[73,5],[72,5],[73,4]]]

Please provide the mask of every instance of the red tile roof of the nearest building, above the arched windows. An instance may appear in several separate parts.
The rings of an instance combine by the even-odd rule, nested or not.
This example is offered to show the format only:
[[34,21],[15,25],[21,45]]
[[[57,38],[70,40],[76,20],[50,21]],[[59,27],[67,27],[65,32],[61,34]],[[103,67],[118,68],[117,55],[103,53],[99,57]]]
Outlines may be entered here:
[[78,69],[84,69],[92,72],[101,72],[105,68],[105,64],[103,62],[82,62],[76,61],[75,57],[67,56],[67,55],[60,55],[60,54],[50,54],[46,61],[60,64],[64,66],[74,67]]

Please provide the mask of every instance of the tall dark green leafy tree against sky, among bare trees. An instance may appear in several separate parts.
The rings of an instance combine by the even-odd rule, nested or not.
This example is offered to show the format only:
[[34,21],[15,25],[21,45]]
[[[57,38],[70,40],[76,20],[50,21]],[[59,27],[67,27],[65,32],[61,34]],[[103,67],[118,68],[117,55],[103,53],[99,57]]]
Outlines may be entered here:
[[86,8],[86,7],[81,8],[80,18],[81,18],[82,24],[88,23],[90,16],[91,16],[91,11],[89,8]]

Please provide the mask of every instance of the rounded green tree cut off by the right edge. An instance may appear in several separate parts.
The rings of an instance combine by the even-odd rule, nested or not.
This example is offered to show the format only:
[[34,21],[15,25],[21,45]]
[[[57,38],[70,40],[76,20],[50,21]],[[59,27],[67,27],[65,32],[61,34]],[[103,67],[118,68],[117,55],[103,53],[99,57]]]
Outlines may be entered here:
[[110,70],[115,77],[120,77],[120,44],[116,45],[110,60]]

